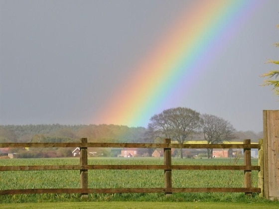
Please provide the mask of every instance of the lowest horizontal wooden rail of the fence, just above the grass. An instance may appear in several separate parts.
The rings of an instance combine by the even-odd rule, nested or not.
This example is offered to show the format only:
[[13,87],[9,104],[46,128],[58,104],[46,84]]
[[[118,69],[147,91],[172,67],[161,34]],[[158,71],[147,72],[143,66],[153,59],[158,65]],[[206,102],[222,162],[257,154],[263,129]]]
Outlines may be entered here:
[[119,188],[119,189],[23,189],[0,190],[0,195],[19,194],[89,194],[89,193],[194,193],[194,192],[225,192],[225,193],[260,193],[260,188]]

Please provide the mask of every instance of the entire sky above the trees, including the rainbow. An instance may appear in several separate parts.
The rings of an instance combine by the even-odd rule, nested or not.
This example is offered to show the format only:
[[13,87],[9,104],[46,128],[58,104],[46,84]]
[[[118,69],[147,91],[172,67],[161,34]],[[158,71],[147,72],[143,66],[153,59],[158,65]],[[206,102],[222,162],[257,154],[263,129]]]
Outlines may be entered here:
[[147,127],[188,107],[263,130],[278,0],[0,0],[0,125]]

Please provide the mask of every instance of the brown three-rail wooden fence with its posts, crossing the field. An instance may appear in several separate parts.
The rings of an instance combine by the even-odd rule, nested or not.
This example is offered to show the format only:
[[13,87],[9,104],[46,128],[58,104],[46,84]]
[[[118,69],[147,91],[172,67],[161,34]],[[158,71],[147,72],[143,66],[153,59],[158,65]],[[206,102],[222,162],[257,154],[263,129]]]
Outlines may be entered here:
[[[0,143],[0,147],[80,147],[80,165],[40,165],[40,166],[0,166],[0,171],[41,171],[41,170],[80,170],[80,189],[22,189],[0,190],[0,195],[13,194],[46,194],[46,193],[187,193],[187,192],[234,192],[234,193],[261,193],[263,192],[263,158],[259,156],[259,165],[251,165],[251,149],[259,149],[263,154],[262,140],[259,144],[251,144],[250,139],[243,144],[171,144],[170,139],[165,139],[161,144],[149,143],[87,143],[87,138],[82,138],[80,143]],[[88,165],[88,147],[107,148],[163,148],[164,165]],[[241,148],[244,149],[244,165],[172,165],[171,148]],[[262,155],[261,154],[261,155]],[[164,170],[164,188],[114,188],[91,189],[88,188],[88,170],[91,169],[118,169],[118,170]],[[173,188],[172,170],[243,170],[243,188]],[[259,171],[259,186],[252,187],[252,171]]]

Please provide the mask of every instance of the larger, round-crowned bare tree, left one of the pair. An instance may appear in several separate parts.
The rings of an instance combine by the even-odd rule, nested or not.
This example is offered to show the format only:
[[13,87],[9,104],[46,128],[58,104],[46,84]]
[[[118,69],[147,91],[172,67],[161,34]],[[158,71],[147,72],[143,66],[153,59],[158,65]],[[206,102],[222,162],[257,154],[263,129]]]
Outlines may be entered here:
[[[200,127],[200,114],[186,107],[165,109],[150,118],[148,130],[154,137],[171,138],[183,144]],[[180,157],[183,158],[182,149]]]

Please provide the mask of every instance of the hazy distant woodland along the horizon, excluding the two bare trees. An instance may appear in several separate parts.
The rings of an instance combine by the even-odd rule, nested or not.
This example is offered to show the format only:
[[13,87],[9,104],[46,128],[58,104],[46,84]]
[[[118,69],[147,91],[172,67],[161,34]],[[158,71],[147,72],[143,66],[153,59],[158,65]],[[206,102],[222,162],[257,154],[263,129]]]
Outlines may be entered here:
[[[236,131],[231,141],[251,139],[258,142],[263,132]],[[116,143],[161,143],[163,139],[148,136],[144,127],[128,127],[124,125],[0,125],[0,142],[79,142],[80,138],[87,138],[88,142],[116,142]],[[161,141],[160,141],[161,140]],[[203,134],[194,134],[191,141],[203,140]],[[31,149],[31,148],[30,148]],[[26,152],[22,148],[14,148],[10,152],[21,153],[23,158],[33,157],[70,157],[73,148],[32,148]],[[104,152],[103,152],[104,153]],[[109,156],[109,155],[107,155]]]

